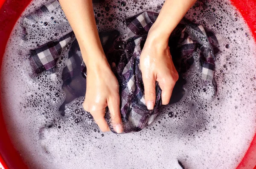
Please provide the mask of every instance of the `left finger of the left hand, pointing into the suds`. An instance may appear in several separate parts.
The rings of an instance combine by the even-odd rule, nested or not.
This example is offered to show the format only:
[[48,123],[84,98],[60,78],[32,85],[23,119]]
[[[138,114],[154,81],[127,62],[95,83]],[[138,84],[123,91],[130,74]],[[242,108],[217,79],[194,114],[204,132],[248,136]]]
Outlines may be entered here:
[[102,132],[110,131],[107,121],[105,120],[105,108],[97,111],[90,112],[95,122],[98,124]]

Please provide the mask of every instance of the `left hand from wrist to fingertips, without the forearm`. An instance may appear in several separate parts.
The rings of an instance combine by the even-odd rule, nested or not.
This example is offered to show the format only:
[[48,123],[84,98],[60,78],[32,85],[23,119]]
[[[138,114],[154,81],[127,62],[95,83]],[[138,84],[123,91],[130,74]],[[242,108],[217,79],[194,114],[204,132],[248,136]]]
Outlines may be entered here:
[[113,128],[121,133],[122,120],[120,115],[119,84],[111,71],[105,56],[101,60],[87,61],[86,95],[84,109],[93,116],[102,132],[109,131],[105,120],[105,108],[108,106]]

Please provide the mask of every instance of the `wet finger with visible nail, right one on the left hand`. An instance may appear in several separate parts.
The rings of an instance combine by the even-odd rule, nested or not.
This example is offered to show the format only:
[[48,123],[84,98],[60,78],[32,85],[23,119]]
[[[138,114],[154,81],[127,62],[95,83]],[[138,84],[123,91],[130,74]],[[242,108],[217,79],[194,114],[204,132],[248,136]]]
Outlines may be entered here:
[[122,127],[122,119],[120,114],[120,97],[117,95],[116,97],[112,97],[108,101],[108,109],[111,115],[111,123],[113,125],[114,130],[117,133],[123,132]]

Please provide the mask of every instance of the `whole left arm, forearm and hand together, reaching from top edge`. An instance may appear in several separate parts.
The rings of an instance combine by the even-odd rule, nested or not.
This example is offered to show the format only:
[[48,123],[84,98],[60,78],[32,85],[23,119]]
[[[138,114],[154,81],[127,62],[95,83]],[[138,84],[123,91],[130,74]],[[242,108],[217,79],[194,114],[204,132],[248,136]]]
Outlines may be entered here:
[[[105,108],[108,106],[113,128],[122,132],[119,85],[99,39],[92,0],[60,0],[61,7],[72,26],[87,67],[87,86],[84,109],[90,112],[99,128],[109,131]],[[76,12],[74,12],[76,11]]]

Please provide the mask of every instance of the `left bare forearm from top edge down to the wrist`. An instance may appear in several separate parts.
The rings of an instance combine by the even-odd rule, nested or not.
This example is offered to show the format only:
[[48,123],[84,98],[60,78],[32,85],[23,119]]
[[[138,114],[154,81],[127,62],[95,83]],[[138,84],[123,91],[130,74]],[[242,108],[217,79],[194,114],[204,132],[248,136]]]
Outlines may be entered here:
[[105,60],[96,27],[92,0],[73,0],[72,3],[70,0],[60,0],[60,3],[76,34],[84,62],[87,64],[91,61]]

